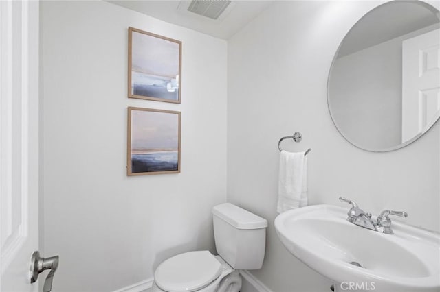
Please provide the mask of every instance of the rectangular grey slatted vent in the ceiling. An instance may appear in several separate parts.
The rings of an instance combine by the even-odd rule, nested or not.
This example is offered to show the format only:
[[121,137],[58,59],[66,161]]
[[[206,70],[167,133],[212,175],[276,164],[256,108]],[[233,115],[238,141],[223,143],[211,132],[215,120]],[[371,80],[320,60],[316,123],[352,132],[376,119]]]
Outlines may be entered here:
[[192,12],[219,21],[229,14],[234,5],[235,3],[229,0],[181,0],[177,10],[186,13]]

